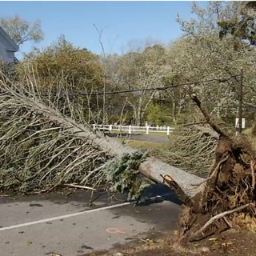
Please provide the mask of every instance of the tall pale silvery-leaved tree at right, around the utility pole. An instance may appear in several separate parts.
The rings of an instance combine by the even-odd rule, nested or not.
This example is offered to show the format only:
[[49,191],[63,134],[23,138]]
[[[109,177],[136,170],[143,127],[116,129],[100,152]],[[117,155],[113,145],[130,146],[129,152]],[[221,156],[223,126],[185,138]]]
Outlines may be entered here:
[[[178,17],[184,34],[171,45],[169,54],[174,75],[181,77],[182,74],[183,82],[225,78],[240,74],[243,67],[244,98],[254,102],[254,50],[245,41],[241,41],[241,47],[235,49],[234,38],[230,34],[222,40],[219,38],[222,31],[219,21],[236,16],[241,6],[242,2],[208,2],[206,8],[202,8],[194,3],[192,12],[196,18],[186,21]],[[212,114],[229,116],[234,122],[238,107],[238,81],[232,79],[230,82],[214,82],[208,86],[201,84],[193,88]]]

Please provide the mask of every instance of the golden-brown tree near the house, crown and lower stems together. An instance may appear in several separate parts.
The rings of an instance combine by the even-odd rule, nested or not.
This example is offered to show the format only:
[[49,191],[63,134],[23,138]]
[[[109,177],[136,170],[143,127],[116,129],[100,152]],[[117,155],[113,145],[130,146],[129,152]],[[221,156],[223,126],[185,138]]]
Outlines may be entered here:
[[[42,50],[34,49],[26,54],[17,74],[22,83],[34,81],[44,98],[63,108],[63,113],[71,115],[82,111],[87,122],[101,121],[102,98],[90,96],[103,90],[100,58],[86,48],[73,46],[65,36]],[[70,102],[66,102],[67,99]],[[72,111],[66,106],[72,107]]]

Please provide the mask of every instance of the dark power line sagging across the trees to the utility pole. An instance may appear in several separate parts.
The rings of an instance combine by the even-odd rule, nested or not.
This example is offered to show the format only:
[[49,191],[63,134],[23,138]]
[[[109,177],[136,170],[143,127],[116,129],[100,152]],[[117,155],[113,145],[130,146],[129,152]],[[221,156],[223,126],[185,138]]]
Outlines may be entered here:
[[98,95],[110,95],[110,94],[125,94],[125,93],[132,93],[132,92],[136,92],[136,91],[167,90],[167,89],[177,88],[177,87],[180,87],[180,86],[190,86],[190,85],[198,84],[198,83],[202,83],[202,82],[214,82],[214,81],[227,82],[231,78],[237,78],[239,76],[240,75],[238,74],[238,75],[230,76],[230,78],[213,78],[213,79],[209,79],[209,80],[202,80],[202,81],[197,81],[197,82],[186,82],[186,83],[181,83],[181,84],[171,85],[171,86],[164,86],[164,87],[109,91],[109,92],[105,92],[105,93],[104,92],[99,92],[99,93],[93,93],[93,94],[69,94],[69,95],[70,96],[98,96]]

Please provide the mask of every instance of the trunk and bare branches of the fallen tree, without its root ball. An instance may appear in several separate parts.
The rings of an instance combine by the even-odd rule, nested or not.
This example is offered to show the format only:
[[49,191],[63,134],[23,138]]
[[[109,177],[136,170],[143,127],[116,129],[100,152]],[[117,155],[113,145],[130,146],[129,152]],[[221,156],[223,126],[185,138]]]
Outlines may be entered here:
[[[4,79],[2,79],[0,85],[0,116],[4,117],[2,130],[4,131],[3,127],[6,127],[6,130],[12,128],[9,132],[2,134],[0,146],[2,146],[2,150],[7,149],[8,146],[13,146],[13,151],[10,151],[9,155],[6,154],[5,151],[2,151],[1,190],[8,190],[10,187],[14,188],[17,184],[19,184],[20,188],[22,187],[22,191],[24,190],[26,192],[30,190],[52,190],[56,186],[70,182],[79,182],[82,186],[88,183],[90,185],[97,185],[98,182],[94,184],[94,180],[89,180],[89,177],[92,178],[95,174],[102,175],[103,172],[99,173],[99,170],[101,166],[105,165],[108,159],[121,159],[126,155],[132,156],[137,154],[137,150],[123,145],[122,142],[118,142],[114,138],[106,137],[100,132],[95,133],[82,118],[80,119],[82,121],[79,123],[75,121],[74,118],[63,115],[52,102],[43,100],[34,88],[32,88],[33,90],[29,90],[27,89],[29,88],[28,86],[25,87],[18,83],[14,85],[11,82],[6,82]],[[68,95],[66,96],[68,97]],[[18,126],[20,130],[15,132],[17,124],[24,122],[24,120],[26,124]],[[32,127],[41,128],[34,130]],[[54,134],[51,134],[52,131],[54,131]],[[23,136],[23,138],[21,138],[21,136]],[[65,137],[67,140],[65,140],[64,145],[57,146],[54,140],[59,139],[59,141],[61,141],[61,138]],[[23,161],[19,162],[18,170],[21,171],[21,175],[19,175],[19,171],[14,170],[14,168],[9,168],[11,161],[5,162],[5,159],[7,157],[10,158],[11,155],[16,157],[19,150],[23,150],[23,139],[29,141],[28,138],[38,139],[36,146],[42,146],[42,150],[38,150],[35,146],[34,150],[36,153],[33,153],[31,152],[33,149],[27,146],[26,154],[20,155],[17,159]],[[44,140],[42,140],[42,138],[44,138]],[[47,139],[49,139],[49,141],[47,141]],[[15,144],[14,141],[17,143]],[[46,145],[44,142],[46,142]],[[78,150],[78,147],[75,147],[75,143],[77,143],[76,145],[80,150]],[[66,149],[66,146],[70,148]],[[86,147],[86,150],[81,151],[82,147]],[[49,149],[53,151],[51,151],[51,154],[47,155],[46,153]],[[60,159],[59,161],[58,158],[61,158],[64,154],[63,150],[66,150],[65,154],[66,156],[69,155],[69,157]],[[94,156],[91,155],[92,153]],[[84,158],[86,154],[88,154],[88,158]],[[44,159],[34,158],[35,155]],[[31,166],[29,166],[31,168],[26,170],[28,158],[33,159],[34,166],[31,164]],[[62,165],[59,165],[59,162],[62,162]],[[88,165],[89,162],[93,162],[94,164]],[[39,163],[40,165],[38,165]],[[35,166],[38,168],[37,171],[35,171],[37,169],[34,168]],[[63,171],[61,169],[63,166],[65,166],[65,177],[69,177],[70,179],[62,178]],[[16,167],[17,166],[15,166],[15,168]],[[51,168],[46,171],[46,167]],[[190,186],[191,182],[202,182],[203,179],[196,175],[188,174],[182,169],[169,166],[153,157],[146,158],[138,167],[142,174],[154,182],[161,183],[163,182],[163,175],[170,175],[188,196],[197,194],[204,186]],[[86,170],[84,170],[84,168],[86,168]],[[135,175],[138,176],[136,171],[137,170],[135,170]],[[26,177],[24,177],[24,174],[26,174]],[[74,174],[74,176],[72,177],[71,174]],[[56,179],[56,177],[59,178],[58,182],[52,182],[52,184],[50,184],[51,186],[48,186],[49,184],[47,183],[47,186],[44,188],[41,186],[45,178]],[[8,180],[8,182],[6,182],[6,180]],[[38,182],[35,183],[34,186],[31,186],[31,182],[34,182],[34,180],[38,180]],[[166,184],[166,186],[169,185]],[[127,189],[129,190],[129,188]]]

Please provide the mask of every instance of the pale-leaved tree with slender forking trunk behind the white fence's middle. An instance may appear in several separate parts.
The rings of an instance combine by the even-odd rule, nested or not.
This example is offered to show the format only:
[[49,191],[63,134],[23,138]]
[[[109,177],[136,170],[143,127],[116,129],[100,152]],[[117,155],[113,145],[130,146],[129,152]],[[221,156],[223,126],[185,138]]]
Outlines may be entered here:
[[[116,90],[150,89],[162,86],[165,66],[165,48],[154,45],[146,47],[142,52],[130,50],[115,59],[112,63],[111,78]],[[115,67],[113,69],[113,67]],[[133,110],[136,126],[142,120],[157,91],[136,91],[122,94]]]

